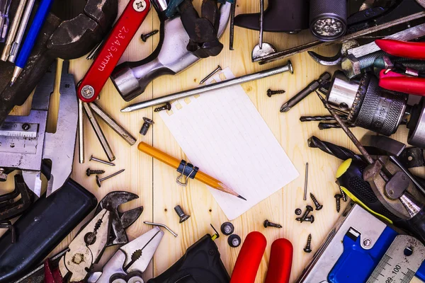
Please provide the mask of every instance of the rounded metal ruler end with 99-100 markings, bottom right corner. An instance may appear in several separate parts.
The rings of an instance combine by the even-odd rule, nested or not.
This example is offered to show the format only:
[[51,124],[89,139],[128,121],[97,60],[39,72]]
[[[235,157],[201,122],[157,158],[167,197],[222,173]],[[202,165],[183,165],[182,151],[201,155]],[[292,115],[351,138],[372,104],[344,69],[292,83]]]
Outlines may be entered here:
[[366,283],[409,283],[425,258],[425,246],[407,235],[395,237]]

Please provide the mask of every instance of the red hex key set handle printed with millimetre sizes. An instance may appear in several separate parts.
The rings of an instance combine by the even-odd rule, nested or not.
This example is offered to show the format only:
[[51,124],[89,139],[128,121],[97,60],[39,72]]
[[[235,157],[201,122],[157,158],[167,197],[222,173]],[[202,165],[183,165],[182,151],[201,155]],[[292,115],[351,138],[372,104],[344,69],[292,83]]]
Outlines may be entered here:
[[[77,88],[79,99],[86,103],[96,100],[109,76],[111,76],[113,69],[130,44],[132,37],[135,36],[140,25],[145,21],[150,8],[151,3],[149,0],[130,0],[123,14],[113,26],[108,39],[103,43],[86,76],[79,84]],[[91,86],[93,89],[84,88],[85,86]],[[86,96],[93,96],[90,98],[84,97],[81,94],[83,88]]]

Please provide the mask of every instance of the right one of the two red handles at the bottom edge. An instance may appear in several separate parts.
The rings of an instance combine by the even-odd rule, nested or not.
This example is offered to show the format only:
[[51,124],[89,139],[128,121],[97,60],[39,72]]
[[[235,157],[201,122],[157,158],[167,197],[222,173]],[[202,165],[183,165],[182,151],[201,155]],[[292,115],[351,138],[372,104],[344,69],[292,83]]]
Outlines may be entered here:
[[293,246],[285,238],[277,239],[271,245],[270,263],[264,283],[289,283],[293,261]]

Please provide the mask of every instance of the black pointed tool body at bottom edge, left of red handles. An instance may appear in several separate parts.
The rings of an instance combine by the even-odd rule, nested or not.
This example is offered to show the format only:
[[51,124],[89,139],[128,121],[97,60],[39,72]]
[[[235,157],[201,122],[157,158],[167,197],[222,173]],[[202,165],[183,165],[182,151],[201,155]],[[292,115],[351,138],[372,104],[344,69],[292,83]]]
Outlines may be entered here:
[[230,277],[220,259],[217,245],[210,235],[186,250],[183,257],[162,275],[150,279],[147,283],[229,283]]

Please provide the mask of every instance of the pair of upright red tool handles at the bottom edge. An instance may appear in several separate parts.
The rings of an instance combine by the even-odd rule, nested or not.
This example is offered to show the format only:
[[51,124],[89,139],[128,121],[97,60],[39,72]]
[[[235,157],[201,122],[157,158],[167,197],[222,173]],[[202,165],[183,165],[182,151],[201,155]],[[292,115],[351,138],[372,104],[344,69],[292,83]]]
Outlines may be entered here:
[[[266,250],[266,237],[260,232],[246,236],[234,265],[230,283],[254,283],[257,271]],[[290,241],[280,238],[271,245],[270,262],[264,283],[288,283],[293,261],[293,246]]]

